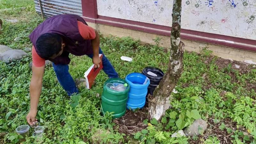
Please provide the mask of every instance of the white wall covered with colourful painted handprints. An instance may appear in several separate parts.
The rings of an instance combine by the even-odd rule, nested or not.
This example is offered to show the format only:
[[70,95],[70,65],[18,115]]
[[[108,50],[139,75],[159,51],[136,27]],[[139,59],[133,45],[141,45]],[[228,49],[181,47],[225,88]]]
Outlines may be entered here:
[[[256,0],[211,1],[182,0],[181,28],[256,40]],[[97,7],[102,16],[172,26],[172,3],[97,0]]]

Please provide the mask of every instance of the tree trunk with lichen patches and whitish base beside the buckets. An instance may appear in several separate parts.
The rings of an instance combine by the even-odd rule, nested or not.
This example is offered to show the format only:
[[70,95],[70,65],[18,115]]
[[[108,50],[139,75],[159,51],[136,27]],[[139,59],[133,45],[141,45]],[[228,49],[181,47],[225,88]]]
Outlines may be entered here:
[[160,120],[170,107],[170,94],[182,72],[184,44],[180,41],[181,0],[173,0],[171,53],[167,72],[156,87],[153,96],[148,97],[149,117]]

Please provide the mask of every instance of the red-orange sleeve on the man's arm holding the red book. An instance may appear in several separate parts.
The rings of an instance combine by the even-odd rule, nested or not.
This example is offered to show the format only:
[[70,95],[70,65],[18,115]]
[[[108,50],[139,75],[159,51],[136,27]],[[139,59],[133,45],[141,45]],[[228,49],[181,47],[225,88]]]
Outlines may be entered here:
[[92,27],[85,25],[81,21],[77,21],[77,26],[78,26],[80,35],[84,39],[94,39],[96,37],[95,31]]

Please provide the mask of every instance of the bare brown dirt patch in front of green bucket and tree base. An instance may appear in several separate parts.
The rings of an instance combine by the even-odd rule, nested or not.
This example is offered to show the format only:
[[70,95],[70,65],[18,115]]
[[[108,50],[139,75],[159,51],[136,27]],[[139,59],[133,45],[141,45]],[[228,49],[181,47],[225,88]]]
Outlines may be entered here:
[[143,123],[144,119],[147,119],[148,103],[146,102],[144,108],[132,112],[131,110],[126,110],[126,113],[121,118],[116,118],[113,122],[116,124],[114,127],[119,133],[124,133],[127,136],[132,136],[132,134],[147,128],[148,125]]

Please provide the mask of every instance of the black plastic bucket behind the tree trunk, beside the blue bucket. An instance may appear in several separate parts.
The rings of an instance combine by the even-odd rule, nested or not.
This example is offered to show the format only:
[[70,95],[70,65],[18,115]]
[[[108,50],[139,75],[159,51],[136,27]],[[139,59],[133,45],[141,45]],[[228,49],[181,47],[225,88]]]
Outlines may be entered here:
[[[149,75],[148,74],[149,71],[156,74],[157,76]],[[142,74],[149,78],[150,84],[148,85],[148,93],[150,93],[150,95],[153,95],[153,92],[155,91],[156,86],[160,83],[160,81],[164,76],[164,72],[159,68],[146,67],[142,70]]]

